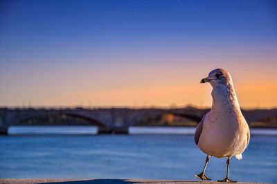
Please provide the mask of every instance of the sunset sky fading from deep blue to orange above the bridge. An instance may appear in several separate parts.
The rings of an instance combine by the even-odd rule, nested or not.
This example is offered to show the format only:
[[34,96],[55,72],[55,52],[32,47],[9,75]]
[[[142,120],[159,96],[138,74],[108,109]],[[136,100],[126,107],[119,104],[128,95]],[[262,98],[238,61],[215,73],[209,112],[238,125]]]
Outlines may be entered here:
[[276,1],[0,1],[0,106],[277,107]]

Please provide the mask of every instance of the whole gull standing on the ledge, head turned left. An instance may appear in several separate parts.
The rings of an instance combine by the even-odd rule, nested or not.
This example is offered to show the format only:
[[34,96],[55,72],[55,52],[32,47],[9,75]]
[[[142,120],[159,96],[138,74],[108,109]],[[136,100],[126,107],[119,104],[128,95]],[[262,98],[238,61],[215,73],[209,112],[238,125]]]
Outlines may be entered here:
[[195,144],[206,155],[206,163],[201,174],[195,175],[202,180],[211,180],[205,174],[211,156],[227,158],[226,178],[221,182],[236,182],[229,178],[229,165],[232,156],[242,159],[244,149],[249,145],[250,131],[242,115],[240,104],[228,71],[217,68],[200,83],[209,82],[213,86],[213,104],[195,131]]

